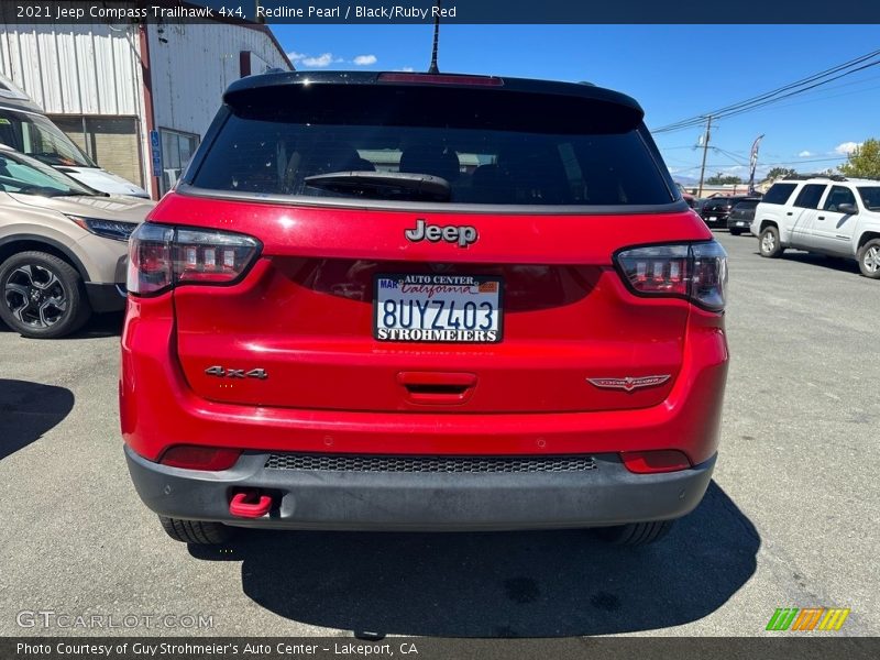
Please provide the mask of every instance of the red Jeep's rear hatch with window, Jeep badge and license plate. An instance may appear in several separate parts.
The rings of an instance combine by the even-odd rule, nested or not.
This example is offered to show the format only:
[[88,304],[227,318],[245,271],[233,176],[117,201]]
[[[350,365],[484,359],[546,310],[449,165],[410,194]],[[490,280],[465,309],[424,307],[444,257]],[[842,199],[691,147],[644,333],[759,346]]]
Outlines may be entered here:
[[[176,248],[190,274],[174,292],[177,354],[196,394],[414,413],[666,398],[690,305],[631,289],[679,290],[693,261],[686,246],[638,256],[625,282],[614,255],[711,234],[635,102],[576,85],[277,78],[230,89],[152,217],[260,243],[252,264],[205,232]],[[395,185],[418,177],[448,199]],[[199,285],[223,258],[246,273]],[[614,385],[627,377],[648,385]]]

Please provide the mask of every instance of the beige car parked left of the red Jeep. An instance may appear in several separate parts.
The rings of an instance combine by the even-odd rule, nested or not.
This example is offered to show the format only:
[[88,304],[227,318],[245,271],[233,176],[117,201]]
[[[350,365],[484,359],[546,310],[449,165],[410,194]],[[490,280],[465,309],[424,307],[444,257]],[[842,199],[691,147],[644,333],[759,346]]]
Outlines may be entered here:
[[53,339],[123,309],[129,235],[153,206],[0,146],[0,319]]

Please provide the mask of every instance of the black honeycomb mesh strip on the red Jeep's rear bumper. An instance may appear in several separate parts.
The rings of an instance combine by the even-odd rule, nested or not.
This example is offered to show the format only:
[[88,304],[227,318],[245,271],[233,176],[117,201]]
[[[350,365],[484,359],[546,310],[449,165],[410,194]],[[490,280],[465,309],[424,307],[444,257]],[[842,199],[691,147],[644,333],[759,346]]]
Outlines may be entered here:
[[516,473],[596,470],[593,457],[383,457],[369,454],[272,454],[270,470],[329,472]]

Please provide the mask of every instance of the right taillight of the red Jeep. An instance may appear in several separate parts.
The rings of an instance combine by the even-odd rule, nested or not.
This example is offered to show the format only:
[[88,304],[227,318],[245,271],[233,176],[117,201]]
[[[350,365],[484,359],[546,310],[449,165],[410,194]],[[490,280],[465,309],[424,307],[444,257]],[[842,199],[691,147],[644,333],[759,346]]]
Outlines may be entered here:
[[722,311],[727,297],[727,253],[716,241],[646,245],[617,253],[624,282],[640,296],[685,298]]

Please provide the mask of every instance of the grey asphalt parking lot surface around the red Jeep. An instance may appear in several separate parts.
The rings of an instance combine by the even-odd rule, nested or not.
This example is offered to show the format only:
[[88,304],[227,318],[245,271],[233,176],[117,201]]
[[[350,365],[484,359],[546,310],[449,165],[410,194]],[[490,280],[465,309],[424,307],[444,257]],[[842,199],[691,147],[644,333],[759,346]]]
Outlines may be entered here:
[[[703,504],[645,549],[578,530],[187,548],[129,480],[121,319],[58,341],[0,327],[0,634],[736,636],[816,605],[851,608],[839,634],[880,634],[880,282],[716,237],[730,255],[719,461]],[[95,625],[28,614],[46,610]]]

